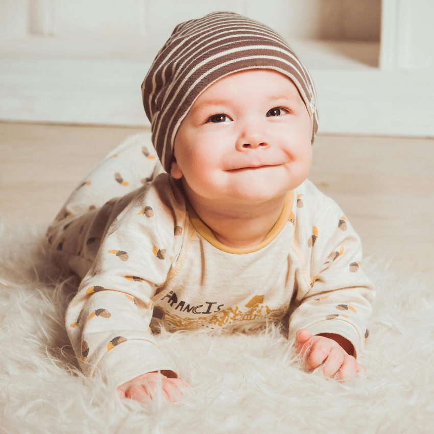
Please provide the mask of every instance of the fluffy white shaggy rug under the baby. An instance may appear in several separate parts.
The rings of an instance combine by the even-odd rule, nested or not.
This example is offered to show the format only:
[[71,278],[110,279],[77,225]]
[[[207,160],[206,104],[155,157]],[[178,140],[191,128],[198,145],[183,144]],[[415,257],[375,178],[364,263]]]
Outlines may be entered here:
[[434,432],[432,285],[368,264],[378,296],[362,378],[303,372],[276,326],[163,332],[190,390],[141,405],[78,370],[62,316],[79,282],[45,265],[44,231],[0,221],[0,432]]

